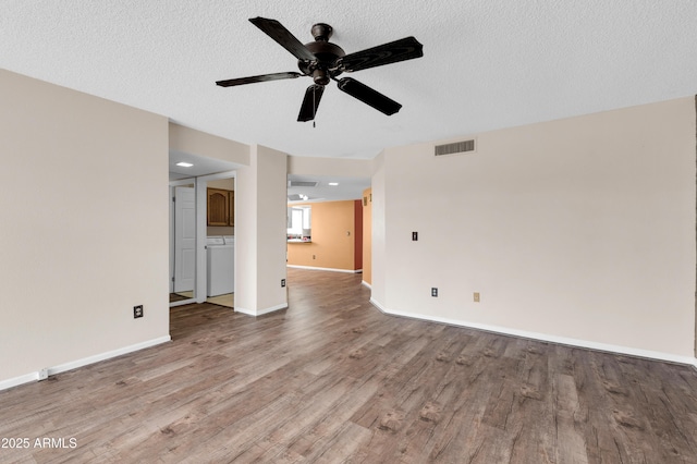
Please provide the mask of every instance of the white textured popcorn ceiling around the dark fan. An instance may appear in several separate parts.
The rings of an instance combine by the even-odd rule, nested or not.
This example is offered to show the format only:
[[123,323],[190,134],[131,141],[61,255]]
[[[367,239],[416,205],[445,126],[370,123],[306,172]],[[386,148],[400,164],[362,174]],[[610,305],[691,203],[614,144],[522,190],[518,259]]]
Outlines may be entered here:
[[[697,93],[697,2],[672,0],[3,0],[0,66],[295,156],[372,158],[457,137]],[[406,36],[424,58],[352,77],[404,107],[386,117],[331,83],[316,123],[296,122],[309,78],[250,24],[301,41],[333,26],[347,53]]]

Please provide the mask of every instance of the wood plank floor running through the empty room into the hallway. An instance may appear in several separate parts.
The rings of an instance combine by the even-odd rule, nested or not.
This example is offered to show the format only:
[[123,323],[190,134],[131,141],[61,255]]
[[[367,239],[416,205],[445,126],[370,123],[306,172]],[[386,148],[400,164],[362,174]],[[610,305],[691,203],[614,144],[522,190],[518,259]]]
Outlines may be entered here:
[[0,462],[697,463],[692,367],[386,316],[359,274],[288,280],[286,310],[176,307],[171,343],[0,392],[0,438],[32,444]]

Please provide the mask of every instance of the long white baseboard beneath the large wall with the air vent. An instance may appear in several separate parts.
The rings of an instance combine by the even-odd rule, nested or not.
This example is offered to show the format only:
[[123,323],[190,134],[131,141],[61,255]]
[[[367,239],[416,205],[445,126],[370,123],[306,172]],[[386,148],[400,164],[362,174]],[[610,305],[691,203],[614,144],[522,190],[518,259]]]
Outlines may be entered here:
[[523,339],[538,340],[541,342],[551,342],[551,343],[557,343],[561,345],[578,346],[578,347],[584,347],[584,349],[595,350],[595,351],[625,354],[629,356],[645,357],[649,359],[665,361],[669,363],[685,364],[685,365],[690,365],[697,368],[697,358],[689,357],[689,356],[680,356],[680,355],[670,354],[670,353],[634,349],[629,346],[613,345],[608,343],[598,343],[598,342],[592,342],[588,340],[570,339],[566,337],[550,335],[547,333],[528,332],[525,330],[515,330],[515,329],[509,329],[505,327],[489,326],[486,323],[467,322],[463,320],[431,317],[431,316],[425,316],[425,315],[412,314],[412,313],[401,313],[401,312],[390,310],[386,308],[374,298],[370,298],[370,304],[372,304],[381,313],[384,313],[390,316],[407,317],[407,318],[419,319],[419,320],[425,320],[429,322],[439,322],[439,323],[445,323],[449,326],[466,327],[468,329],[482,330],[486,332],[501,333],[504,335],[519,337]]

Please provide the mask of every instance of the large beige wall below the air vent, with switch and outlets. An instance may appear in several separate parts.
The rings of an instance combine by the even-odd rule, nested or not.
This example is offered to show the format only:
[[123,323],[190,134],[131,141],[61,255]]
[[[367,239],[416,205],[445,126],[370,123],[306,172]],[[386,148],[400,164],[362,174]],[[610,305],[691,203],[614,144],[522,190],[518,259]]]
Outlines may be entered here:
[[474,154],[386,149],[372,179],[374,302],[693,358],[695,132],[684,98],[477,134]]

